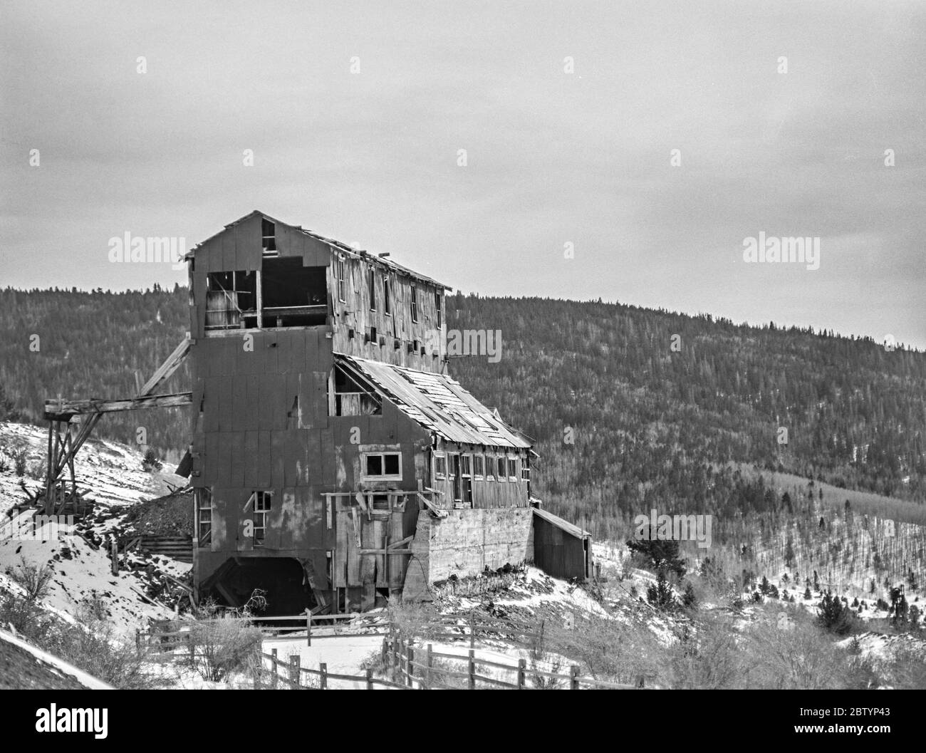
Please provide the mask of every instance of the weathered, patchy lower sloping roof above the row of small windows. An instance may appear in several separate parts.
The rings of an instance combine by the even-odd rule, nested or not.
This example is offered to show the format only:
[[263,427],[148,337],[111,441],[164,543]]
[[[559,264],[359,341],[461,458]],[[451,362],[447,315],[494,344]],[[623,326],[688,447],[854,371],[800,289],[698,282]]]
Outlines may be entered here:
[[532,446],[526,435],[499,420],[493,411],[446,374],[406,369],[338,353],[334,357],[357,369],[407,416],[448,442]]

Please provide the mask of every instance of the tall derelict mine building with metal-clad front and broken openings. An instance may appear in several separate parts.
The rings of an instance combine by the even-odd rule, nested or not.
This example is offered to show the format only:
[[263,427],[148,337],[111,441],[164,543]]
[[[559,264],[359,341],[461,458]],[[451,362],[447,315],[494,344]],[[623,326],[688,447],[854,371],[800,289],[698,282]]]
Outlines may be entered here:
[[[192,403],[200,596],[319,613],[522,561],[591,575],[589,534],[532,497],[532,440],[448,375],[446,285],[258,211],[185,258],[190,337],[131,408]],[[187,353],[191,393],[152,395]]]

